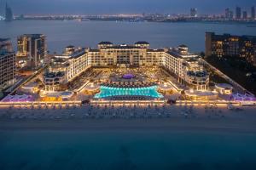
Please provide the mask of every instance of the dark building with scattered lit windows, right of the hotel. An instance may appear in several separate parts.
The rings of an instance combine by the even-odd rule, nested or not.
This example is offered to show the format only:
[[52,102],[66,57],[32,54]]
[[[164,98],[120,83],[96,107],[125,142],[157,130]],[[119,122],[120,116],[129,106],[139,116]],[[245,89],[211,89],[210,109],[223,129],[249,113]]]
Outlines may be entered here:
[[206,33],[206,55],[239,56],[256,65],[256,37]]

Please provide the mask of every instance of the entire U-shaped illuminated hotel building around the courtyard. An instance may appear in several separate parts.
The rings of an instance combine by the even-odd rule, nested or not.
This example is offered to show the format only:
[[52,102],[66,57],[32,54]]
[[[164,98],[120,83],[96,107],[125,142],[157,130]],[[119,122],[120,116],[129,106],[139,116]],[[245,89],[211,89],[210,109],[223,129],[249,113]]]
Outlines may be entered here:
[[199,62],[199,57],[189,54],[182,45],[178,48],[151,49],[148,42],[133,45],[113,45],[100,42],[97,49],[76,49],[69,46],[62,55],[52,59],[52,65],[44,74],[47,91],[61,90],[63,84],[72,82],[90,67],[162,67],[177,81],[195,90],[207,90],[209,75]]

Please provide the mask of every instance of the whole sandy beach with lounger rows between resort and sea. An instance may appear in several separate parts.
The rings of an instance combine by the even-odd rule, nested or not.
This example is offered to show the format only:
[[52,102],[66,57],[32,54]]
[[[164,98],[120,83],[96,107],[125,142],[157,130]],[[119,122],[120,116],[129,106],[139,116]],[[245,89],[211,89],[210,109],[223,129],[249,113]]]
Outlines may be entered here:
[[253,107],[223,106],[92,107],[2,109],[0,130],[206,131],[256,133]]

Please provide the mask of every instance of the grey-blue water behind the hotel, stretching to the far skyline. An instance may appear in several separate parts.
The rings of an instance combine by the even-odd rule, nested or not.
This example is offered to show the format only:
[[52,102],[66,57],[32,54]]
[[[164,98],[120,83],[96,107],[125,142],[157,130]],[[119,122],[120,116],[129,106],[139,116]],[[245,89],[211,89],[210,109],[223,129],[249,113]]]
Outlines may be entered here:
[[186,44],[193,52],[204,50],[205,32],[254,35],[255,27],[241,24],[150,23],[114,21],[21,20],[0,22],[0,37],[10,37],[16,48],[16,37],[25,33],[47,36],[49,52],[60,53],[67,45],[96,47],[101,41],[133,43],[148,41],[153,48]]

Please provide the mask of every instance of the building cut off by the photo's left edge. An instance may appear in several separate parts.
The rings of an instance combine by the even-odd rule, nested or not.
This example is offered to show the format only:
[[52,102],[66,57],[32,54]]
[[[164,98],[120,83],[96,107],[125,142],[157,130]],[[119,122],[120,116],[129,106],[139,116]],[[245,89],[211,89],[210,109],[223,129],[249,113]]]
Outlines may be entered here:
[[15,82],[15,52],[9,39],[0,38],[0,90]]

